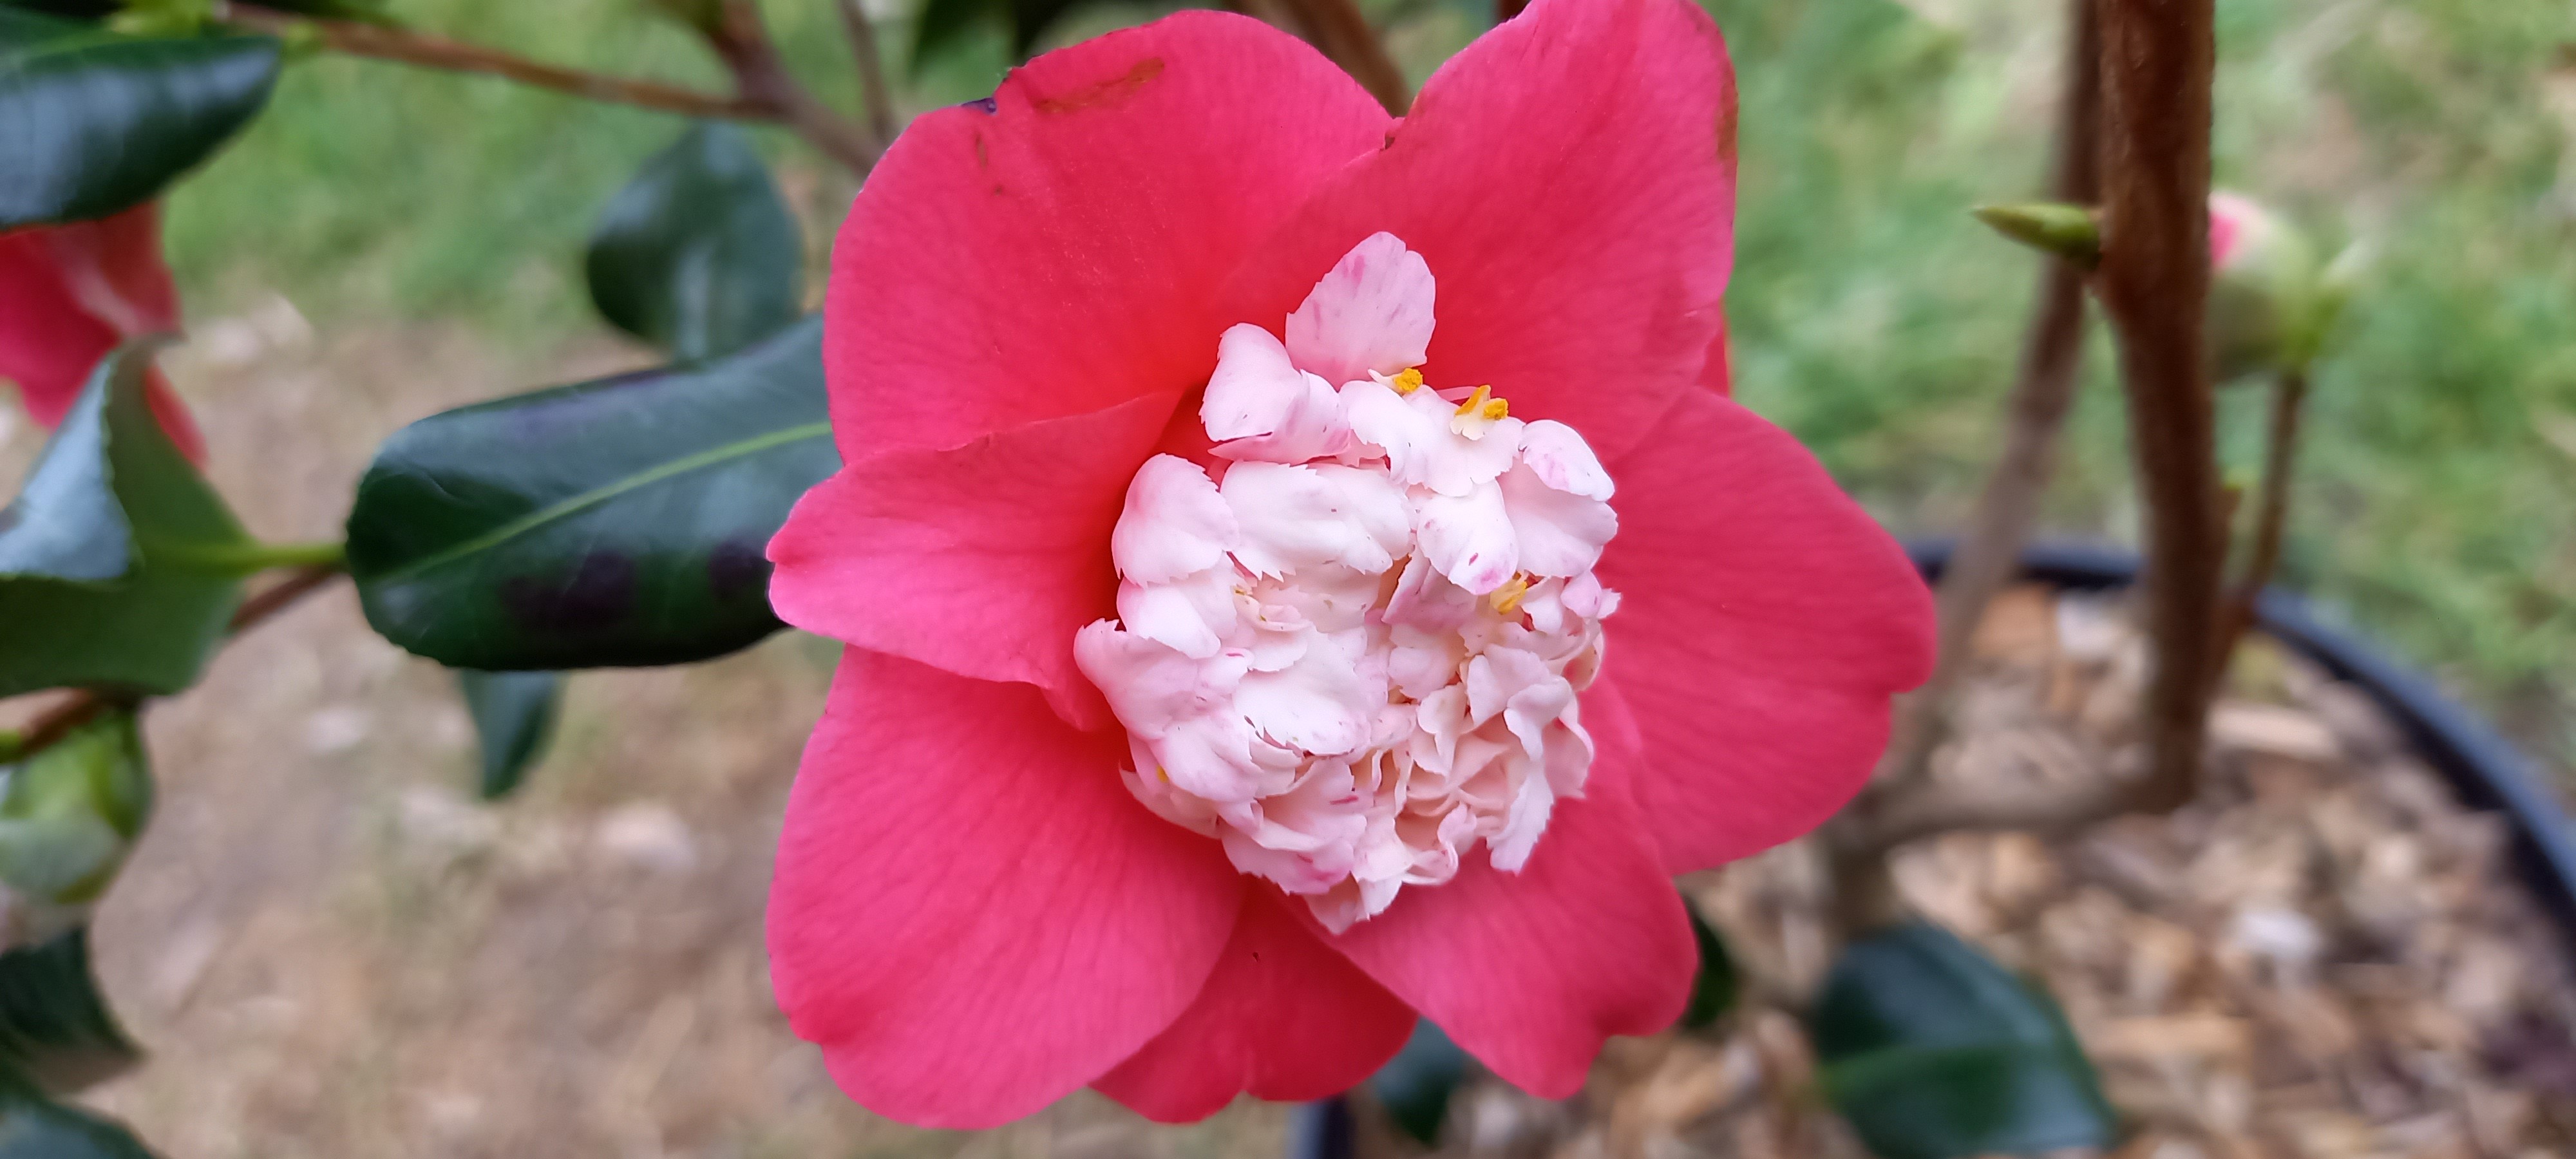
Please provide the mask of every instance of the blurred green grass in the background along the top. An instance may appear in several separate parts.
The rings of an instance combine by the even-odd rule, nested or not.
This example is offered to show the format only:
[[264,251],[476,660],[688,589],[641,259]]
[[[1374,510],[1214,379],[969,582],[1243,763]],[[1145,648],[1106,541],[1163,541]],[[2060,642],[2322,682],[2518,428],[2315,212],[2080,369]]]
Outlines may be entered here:
[[[1996,440],[2032,283],[1965,209],[2038,191],[2048,0],[1705,0],[1741,82],[1736,384],[1899,531],[1955,528]],[[2285,561],[2306,587],[2576,755],[2576,8],[2566,0],[2221,0],[2218,175],[2375,276],[2316,373]],[[768,0],[799,72],[848,108],[827,0]],[[1103,5],[1048,41],[1154,15]],[[1373,10],[1419,77],[1476,0]],[[523,54],[716,88],[644,0],[394,0]],[[2040,13],[2035,18],[2035,13]],[[889,52],[907,41],[889,26]],[[907,103],[981,95],[1002,41],[909,75]],[[541,348],[595,327],[590,214],[680,131],[487,77],[307,59],[270,113],[170,206],[201,314],[286,294],[322,327],[443,319]],[[762,147],[824,232],[850,185]],[[2223,399],[2251,464],[2262,399]],[[2094,340],[2048,523],[2128,538],[2120,407]]]

